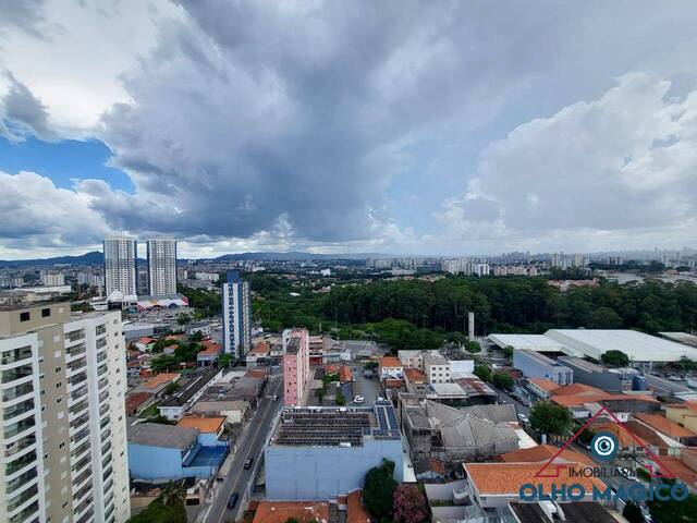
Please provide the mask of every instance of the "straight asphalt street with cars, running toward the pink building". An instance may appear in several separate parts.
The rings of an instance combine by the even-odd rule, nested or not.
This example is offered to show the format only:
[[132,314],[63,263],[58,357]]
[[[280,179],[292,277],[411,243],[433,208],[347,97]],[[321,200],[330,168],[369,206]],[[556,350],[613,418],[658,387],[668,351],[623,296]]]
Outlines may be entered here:
[[[264,443],[271,428],[273,418],[283,404],[283,376],[276,375],[269,380],[265,394],[259,400],[259,405],[249,419],[249,426],[237,442],[237,452],[232,458],[230,472],[225,476],[222,485],[217,488],[216,497],[205,516],[206,523],[222,523],[228,520],[235,521],[242,504],[242,499],[247,490],[252,475],[259,463],[264,452]],[[278,401],[272,401],[270,397],[279,396]],[[253,458],[254,463],[249,470],[245,470],[243,464],[247,458]],[[228,509],[228,500],[232,492],[237,492],[240,499],[234,509]]]

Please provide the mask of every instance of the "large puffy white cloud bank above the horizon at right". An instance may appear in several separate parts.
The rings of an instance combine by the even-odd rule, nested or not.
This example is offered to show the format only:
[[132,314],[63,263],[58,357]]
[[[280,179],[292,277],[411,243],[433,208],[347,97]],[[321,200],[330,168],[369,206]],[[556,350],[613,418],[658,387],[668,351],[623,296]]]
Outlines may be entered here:
[[[674,100],[669,89],[631,73],[598,100],[519,125],[485,149],[468,195],[438,218],[463,236],[496,227],[518,243],[695,241],[697,90]],[[482,205],[500,218],[482,223]]]

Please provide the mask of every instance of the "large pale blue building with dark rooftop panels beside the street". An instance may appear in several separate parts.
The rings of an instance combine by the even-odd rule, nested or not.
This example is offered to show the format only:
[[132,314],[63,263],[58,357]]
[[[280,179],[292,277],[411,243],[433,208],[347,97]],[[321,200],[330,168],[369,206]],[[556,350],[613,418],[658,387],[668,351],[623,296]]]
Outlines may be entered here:
[[266,495],[273,501],[333,499],[363,487],[382,459],[403,481],[403,450],[394,409],[285,409],[264,453]]

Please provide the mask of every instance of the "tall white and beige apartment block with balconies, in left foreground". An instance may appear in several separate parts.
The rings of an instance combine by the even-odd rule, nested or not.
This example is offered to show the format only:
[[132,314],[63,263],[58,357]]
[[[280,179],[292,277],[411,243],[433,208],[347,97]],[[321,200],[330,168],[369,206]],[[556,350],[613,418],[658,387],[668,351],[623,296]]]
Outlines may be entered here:
[[0,306],[0,521],[130,516],[125,351],[119,312]]

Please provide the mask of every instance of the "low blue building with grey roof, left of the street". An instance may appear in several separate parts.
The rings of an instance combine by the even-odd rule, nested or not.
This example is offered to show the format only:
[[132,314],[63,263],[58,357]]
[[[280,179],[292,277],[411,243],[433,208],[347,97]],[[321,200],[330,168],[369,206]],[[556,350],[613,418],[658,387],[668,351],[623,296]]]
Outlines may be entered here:
[[230,449],[228,445],[204,446],[195,428],[158,423],[129,424],[131,477],[167,482],[215,475]]

